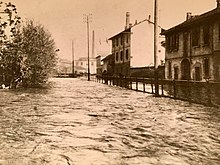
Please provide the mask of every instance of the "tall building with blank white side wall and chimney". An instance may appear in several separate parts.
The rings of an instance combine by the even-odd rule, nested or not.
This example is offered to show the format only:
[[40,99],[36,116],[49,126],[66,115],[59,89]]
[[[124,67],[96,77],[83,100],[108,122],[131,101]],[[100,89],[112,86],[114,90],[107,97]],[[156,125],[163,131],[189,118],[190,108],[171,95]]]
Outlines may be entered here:
[[[148,19],[130,23],[126,13],[125,30],[109,38],[112,41],[112,56],[115,59],[114,74],[130,76],[130,68],[154,65],[154,25]],[[164,48],[160,46],[159,60],[164,59]]]

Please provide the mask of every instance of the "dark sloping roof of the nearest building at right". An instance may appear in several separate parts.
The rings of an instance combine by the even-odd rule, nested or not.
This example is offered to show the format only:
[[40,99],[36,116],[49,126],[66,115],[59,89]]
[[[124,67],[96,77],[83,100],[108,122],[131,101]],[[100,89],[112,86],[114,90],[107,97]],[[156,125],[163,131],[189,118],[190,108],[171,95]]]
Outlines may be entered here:
[[173,31],[179,31],[181,29],[184,29],[184,28],[187,28],[189,26],[192,26],[194,24],[197,24],[197,23],[201,23],[205,20],[213,20],[215,19],[216,16],[219,16],[220,15],[220,7],[217,7],[211,11],[208,11],[204,14],[201,14],[201,15],[198,15],[198,16],[194,16],[186,21],[184,21],[183,23],[177,25],[177,26],[174,26],[168,30],[164,30],[161,32],[162,35],[166,35],[170,32],[173,32]]

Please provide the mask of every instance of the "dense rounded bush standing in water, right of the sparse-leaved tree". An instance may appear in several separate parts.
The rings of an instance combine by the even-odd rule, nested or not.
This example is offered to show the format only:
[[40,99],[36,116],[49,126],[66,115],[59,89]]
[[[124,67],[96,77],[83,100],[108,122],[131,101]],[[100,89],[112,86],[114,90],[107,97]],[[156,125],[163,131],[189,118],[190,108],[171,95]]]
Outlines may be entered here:
[[16,38],[18,43],[21,43],[20,52],[23,56],[22,85],[44,85],[56,65],[56,48],[51,34],[42,25],[27,20]]

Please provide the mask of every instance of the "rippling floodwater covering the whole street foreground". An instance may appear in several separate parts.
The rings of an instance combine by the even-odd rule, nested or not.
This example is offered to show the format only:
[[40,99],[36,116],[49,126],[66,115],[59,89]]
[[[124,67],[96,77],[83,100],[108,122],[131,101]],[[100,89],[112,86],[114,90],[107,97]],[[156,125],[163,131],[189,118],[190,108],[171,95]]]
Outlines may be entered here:
[[219,165],[220,110],[80,79],[0,90],[0,165]]

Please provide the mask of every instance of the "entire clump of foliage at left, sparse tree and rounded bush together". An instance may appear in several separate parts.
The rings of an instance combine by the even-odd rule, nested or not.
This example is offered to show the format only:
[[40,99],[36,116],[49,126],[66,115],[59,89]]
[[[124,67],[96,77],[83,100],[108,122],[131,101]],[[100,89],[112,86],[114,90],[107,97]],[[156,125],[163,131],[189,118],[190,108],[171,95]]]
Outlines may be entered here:
[[56,65],[51,34],[32,20],[21,25],[11,3],[0,2],[0,10],[0,83],[11,88],[44,85]]

